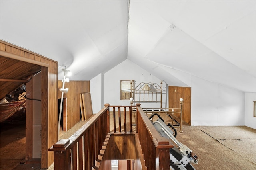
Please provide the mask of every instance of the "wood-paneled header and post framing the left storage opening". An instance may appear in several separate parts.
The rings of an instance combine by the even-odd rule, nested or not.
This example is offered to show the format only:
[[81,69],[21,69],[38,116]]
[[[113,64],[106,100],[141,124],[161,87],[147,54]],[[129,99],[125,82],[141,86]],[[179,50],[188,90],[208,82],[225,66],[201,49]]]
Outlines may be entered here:
[[2,40],[0,40],[0,50],[0,55],[3,57],[42,66],[41,168],[48,168],[53,163],[53,152],[49,152],[48,148],[56,143],[58,139],[58,62]]

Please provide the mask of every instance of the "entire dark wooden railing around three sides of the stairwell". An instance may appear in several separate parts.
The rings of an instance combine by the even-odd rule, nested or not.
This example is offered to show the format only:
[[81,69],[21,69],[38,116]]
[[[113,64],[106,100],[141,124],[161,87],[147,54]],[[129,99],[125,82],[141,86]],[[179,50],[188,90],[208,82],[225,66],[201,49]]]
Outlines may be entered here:
[[[113,131],[110,131],[110,122],[112,122],[111,126],[114,126]],[[136,123],[136,128],[133,128],[132,123]],[[74,135],[68,139],[59,140],[48,149],[54,152],[54,169],[97,169],[95,162],[98,160],[108,133],[135,133],[136,143],[139,143],[142,149],[139,151],[142,152],[140,155],[144,155],[140,156],[141,162],[145,162],[145,164],[142,163],[143,170],[170,169],[169,149],[173,146],[168,139],[161,137],[156,131],[140,104],[136,106],[105,104]]]

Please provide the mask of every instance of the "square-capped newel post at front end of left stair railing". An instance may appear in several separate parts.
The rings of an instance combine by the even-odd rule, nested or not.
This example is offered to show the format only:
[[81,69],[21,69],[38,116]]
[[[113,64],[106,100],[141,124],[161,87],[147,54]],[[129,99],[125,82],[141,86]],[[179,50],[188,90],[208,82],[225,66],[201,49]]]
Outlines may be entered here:
[[66,147],[69,139],[60,139],[48,150],[54,152],[54,170],[71,170],[71,152]]

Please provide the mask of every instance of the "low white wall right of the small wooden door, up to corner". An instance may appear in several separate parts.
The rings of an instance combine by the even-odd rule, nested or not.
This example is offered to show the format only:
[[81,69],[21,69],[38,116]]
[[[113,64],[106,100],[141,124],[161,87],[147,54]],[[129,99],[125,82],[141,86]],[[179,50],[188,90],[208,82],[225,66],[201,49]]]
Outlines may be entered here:
[[245,125],[244,92],[192,76],[191,125]]

